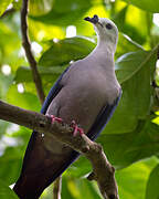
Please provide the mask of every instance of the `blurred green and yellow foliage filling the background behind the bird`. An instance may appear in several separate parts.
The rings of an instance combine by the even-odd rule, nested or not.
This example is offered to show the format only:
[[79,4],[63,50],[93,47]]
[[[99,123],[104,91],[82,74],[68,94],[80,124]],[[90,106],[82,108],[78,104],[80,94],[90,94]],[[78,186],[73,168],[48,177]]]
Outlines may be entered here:
[[[39,112],[31,70],[21,48],[21,1],[0,2],[0,98]],[[11,2],[14,11],[4,14]],[[123,96],[97,142],[117,168],[120,199],[159,198],[159,100],[152,86],[159,80],[159,28],[152,21],[156,12],[159,1],[151,0],[30,1],[29,34],[45,94],[71,61],[86,56],[95,48],[96,36],[83,20],[85,17],[107,17],[118,25],[116,74]],[[68,25],[76,27],[77,36],[65,39]],[[9,186],[19,176],[31,130],[2,121],[0,127],[0,198],[17,198]],[[74,163],[64,172],[62,198],[100,198],[96,184],[83,178],[89,171],[84,157]],[[41,198],[51,198],[51,190]]]

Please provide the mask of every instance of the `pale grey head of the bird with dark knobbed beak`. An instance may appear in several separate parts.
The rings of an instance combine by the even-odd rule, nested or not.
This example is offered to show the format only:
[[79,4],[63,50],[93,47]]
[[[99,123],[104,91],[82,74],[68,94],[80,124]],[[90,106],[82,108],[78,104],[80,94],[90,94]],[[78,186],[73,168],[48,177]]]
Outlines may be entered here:
[[118,29],[112,20],[107,18],[98,18],[96,14],[93,18],[87,17],[85,20],[94,24],[99,43],[106,45],[109,44],[114,50],[116,50]]

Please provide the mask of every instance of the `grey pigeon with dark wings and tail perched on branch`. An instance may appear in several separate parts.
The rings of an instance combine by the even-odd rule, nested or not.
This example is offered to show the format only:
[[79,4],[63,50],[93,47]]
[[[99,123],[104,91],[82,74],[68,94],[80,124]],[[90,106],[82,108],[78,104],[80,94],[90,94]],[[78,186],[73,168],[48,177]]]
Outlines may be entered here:
[[[118,29],[112,20],[97,14],[85,18],[85,21],[93,24],[97,45],[62,73],[41,113],[53,121],[73,124],[75,130],[94,140],[110,119],[121,96],[114,61]],[[33,130],[14,192],[20,199],[38,199],[78,156],[53,136]]]

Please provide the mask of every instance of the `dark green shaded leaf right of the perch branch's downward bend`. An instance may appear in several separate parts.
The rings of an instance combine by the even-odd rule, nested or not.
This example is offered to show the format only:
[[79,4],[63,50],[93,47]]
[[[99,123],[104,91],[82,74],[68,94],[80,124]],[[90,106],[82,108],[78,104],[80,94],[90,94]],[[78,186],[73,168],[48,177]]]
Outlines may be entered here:
[[151,118],[139,121],[136,129],[129,134],[107,135],[106,130],[107,126],[97,140],[116,168],[159,154],[159,125],[151,123]]

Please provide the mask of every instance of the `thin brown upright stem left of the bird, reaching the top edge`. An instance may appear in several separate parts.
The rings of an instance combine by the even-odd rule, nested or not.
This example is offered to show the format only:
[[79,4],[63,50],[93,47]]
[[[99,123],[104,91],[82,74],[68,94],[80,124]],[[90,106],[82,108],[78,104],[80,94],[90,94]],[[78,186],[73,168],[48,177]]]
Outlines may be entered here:
[[42,81],[41,81],[40,74],[38,72],[36,61],[32,54],[31,44],[30,44],[29,36],[28,36],[28,23],[26,23],[28,3],[29,3],[29,0],[22,1],[22,9],[21,9],[22,45],[25,50],[26,59],[32,69],[32,75],[33,75],[33,81],[35,83],[38,96],[40,98],[41,104],[43,104],[45,96],[44,96],[44,92],[42,88]]

